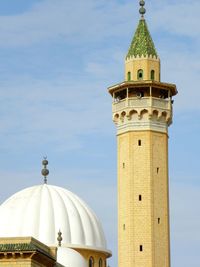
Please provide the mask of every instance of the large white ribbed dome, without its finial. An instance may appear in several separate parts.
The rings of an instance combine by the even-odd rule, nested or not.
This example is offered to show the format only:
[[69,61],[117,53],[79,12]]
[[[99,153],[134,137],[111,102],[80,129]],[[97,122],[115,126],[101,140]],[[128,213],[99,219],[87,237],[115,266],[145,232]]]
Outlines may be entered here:
[[104,233],[94,212],[75,194],[52,185],[24,189],[0,206],[0,236],[32,236],[56,246],[107,251]]

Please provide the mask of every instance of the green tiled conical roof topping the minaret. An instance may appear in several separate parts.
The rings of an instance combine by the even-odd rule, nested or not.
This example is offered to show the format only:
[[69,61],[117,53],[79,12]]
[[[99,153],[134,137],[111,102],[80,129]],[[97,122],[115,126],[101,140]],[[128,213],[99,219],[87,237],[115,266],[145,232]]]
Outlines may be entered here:
[[137,30],[133,37],[131,46],[129,48],[126,58],[131,56],[155,56],[158,57],[155,45],[151,38],[147,23],[144,19],[139,21]]

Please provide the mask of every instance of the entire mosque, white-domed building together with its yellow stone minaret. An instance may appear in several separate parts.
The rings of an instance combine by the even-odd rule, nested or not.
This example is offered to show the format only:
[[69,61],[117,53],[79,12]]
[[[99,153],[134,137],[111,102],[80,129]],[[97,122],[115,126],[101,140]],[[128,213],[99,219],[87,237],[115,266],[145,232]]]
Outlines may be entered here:
[[[118,148],[118,266],[170,267],[168,127],[174,84],[160,59],[140,1],[125,80],[108,88]],[[99,219],[74,193],[44,183],[0,205],[0,266],[107,267],[112,253]]]

